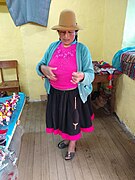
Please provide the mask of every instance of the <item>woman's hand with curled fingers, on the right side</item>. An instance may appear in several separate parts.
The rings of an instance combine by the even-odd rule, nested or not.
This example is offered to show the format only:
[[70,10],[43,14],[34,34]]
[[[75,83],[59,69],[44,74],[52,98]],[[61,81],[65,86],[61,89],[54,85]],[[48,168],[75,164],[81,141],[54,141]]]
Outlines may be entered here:
[[82,81],[84,79],[84,73],[83,72],[73,72],[72,73],[72,80],[71,82],[73,84],[77,84],[80,81]]

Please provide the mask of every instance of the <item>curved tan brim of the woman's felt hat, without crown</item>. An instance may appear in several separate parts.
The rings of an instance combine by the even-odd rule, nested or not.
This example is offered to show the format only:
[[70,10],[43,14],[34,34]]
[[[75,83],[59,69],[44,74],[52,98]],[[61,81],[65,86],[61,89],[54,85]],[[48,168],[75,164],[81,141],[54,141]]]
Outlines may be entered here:
[[52,30],[62,30],[62,31],[76,31],[76,30],[82,30],[82,28],[78,25],[76,26],[71,26],[71,27],[65,27],[65,26],[59,26],[59,25],[56,25],[56,26],[53,26],[51,28]]

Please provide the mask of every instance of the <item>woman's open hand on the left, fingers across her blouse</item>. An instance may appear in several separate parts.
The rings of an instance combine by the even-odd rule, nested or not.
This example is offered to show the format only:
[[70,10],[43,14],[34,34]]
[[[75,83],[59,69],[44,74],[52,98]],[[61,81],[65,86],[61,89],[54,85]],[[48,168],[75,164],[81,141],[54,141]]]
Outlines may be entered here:
[[50,66],[46,66],[46,65],[41,65],[41,71],[44,74],[45,77],[47,77],[50,80],[57,80],[56,75],[53,73],[53,71],[55,71],[57,69],[57,67],[50,67]]

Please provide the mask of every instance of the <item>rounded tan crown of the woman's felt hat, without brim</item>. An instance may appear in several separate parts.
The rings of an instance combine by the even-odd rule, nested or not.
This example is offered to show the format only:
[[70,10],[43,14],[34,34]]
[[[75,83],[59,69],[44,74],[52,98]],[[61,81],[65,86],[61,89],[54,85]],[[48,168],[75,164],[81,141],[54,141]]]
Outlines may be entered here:
[[70,10],[64,10],[60,14],[59,25],[63,27],[75,27],[76,26],[75,13]]

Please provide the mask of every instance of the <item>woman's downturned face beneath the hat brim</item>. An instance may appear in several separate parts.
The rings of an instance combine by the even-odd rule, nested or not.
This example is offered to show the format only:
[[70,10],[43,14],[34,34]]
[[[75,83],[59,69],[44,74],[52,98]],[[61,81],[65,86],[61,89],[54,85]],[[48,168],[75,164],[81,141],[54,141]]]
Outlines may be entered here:
[[75,39],[76,33],[75,31],[58,31],[59,38],[64,46],[70,46]]

